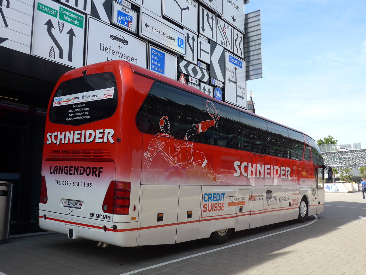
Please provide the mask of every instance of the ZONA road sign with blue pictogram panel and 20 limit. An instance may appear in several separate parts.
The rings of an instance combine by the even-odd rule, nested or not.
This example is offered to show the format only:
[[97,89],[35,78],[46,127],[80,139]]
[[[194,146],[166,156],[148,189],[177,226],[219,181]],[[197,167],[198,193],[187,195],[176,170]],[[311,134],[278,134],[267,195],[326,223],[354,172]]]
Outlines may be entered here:
[[112,24],[137,33],[137,13],[114,1],[112,6]]

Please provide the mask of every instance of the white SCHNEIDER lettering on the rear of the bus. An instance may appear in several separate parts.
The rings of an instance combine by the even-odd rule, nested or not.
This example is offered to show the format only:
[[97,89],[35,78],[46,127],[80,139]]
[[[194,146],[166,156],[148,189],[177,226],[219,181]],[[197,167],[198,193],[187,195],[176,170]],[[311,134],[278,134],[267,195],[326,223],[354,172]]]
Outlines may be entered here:
[[47,133],[46,144],[66,144],[66,143],[114,143],[112,136],[114,135],[113,129],[99,129],[99,130],[82,130],[82,131],[70,131],[70,132],[54,132]]

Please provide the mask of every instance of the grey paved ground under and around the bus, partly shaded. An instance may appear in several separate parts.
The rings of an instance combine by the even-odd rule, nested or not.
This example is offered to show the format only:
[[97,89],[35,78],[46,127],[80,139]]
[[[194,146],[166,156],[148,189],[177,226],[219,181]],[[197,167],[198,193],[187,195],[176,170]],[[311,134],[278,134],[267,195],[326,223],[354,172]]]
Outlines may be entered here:
[[317,220],[236,232],[221,246],[200,240],[103,249],[61,234],[18,236],[0,245],[0,274],[115,275],[138,269],[143,270],[136,274],[365,274],[365,232],[361,192],[326,194]]

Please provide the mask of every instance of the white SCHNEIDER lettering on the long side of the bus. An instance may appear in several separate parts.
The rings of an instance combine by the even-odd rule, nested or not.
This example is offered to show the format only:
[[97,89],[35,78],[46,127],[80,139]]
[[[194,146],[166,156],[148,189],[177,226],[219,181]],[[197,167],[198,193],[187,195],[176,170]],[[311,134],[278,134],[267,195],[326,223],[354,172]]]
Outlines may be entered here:
[[236,172],[234,172],[235,177],[240,177],[243,175],[250,179],[251,177],[256,178],[281,178],[291,180],[291,168],[290,167],[279,167],[275,165],[264,165],[264,164],[251,164],[250,162],[241,162],[235,161],[234,168]]

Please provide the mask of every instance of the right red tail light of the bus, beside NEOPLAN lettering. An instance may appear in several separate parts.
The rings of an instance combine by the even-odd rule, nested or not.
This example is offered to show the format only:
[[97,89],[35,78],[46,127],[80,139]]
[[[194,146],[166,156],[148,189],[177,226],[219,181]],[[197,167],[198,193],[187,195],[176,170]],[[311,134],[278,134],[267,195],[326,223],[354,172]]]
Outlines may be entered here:
[[131,183],[112,180],[103,201],[103,212],[128,215],[130,213]]

